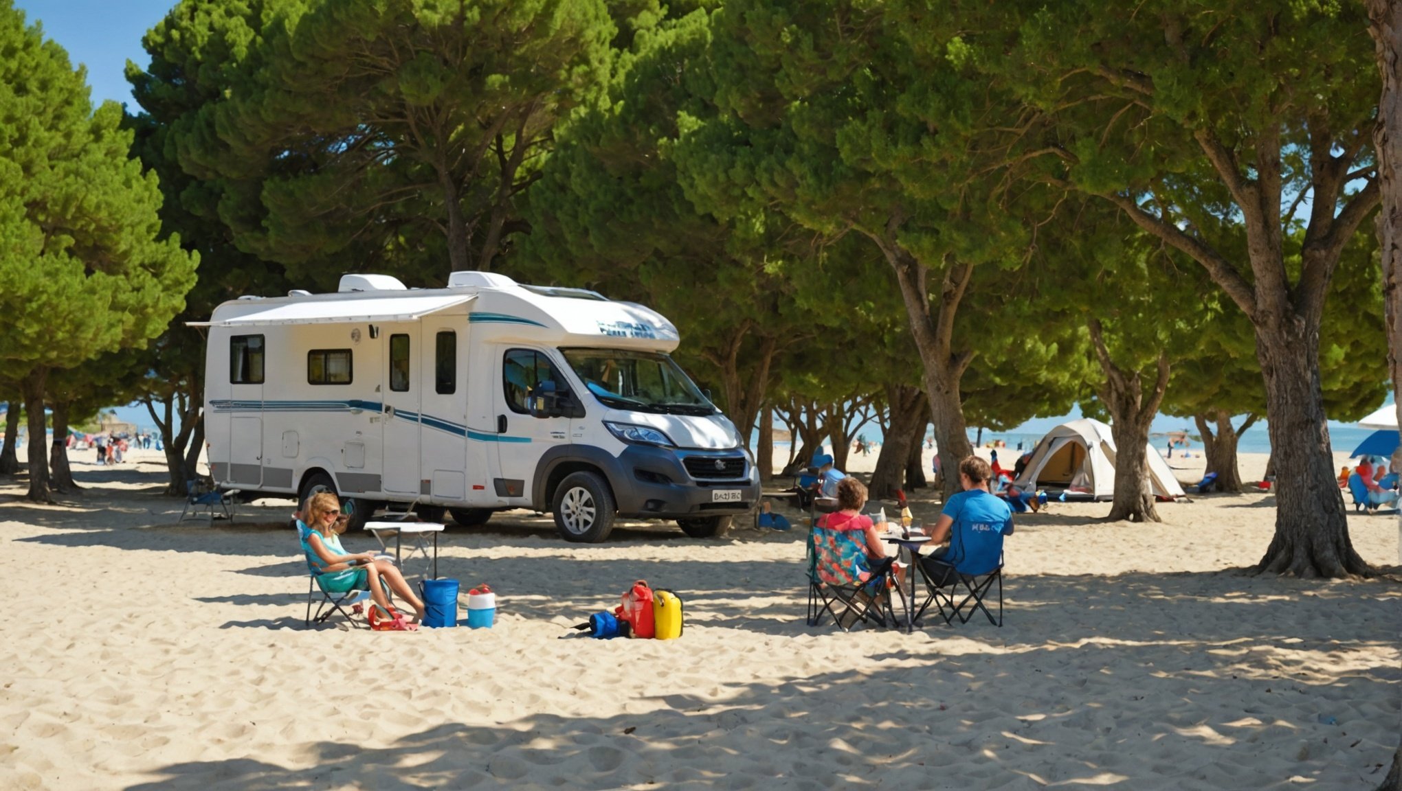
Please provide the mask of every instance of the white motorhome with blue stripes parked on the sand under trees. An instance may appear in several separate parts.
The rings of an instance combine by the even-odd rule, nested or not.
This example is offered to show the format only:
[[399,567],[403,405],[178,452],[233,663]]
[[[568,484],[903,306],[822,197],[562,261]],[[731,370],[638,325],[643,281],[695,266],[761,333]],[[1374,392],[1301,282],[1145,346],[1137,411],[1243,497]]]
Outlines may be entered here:
[[335,294],[240,297],[207,322],[205,434],[222,486],[384,504],[550,511],[568,540],[615,517],[722,532],[758,500],[739,431],[667,356],[677,329],[593,291],[457,272],[447,288],[346,274]]

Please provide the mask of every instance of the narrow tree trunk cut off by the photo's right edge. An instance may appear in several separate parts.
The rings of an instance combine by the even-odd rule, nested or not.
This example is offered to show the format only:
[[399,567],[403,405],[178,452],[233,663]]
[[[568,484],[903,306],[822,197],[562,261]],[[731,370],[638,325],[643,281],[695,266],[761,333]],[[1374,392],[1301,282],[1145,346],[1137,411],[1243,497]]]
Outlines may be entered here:
[[[1368,32],[1373,34],[1382,97],[1378,99],[1378,123],[1373,147],[1378,158],[1378,183],[1382,210],[1378,211],[1378,246],[1382,258],[1382,312],[1388,333],[1388,374],[1392,392],[1402,392],[1402,181],[1396,167],[1402,161],[1402,3],[1367,0]],[[1402,419],[1402,403],[1398,406]],[[1330,465],[1329,469],[1333,469]],[[1402,724],[1399,724],[1402,725]],[[1402,738],[1402,727],[1398,728]],[[1402,791],[1402,743],[1392,753],[1392,769],[1378,791]]]

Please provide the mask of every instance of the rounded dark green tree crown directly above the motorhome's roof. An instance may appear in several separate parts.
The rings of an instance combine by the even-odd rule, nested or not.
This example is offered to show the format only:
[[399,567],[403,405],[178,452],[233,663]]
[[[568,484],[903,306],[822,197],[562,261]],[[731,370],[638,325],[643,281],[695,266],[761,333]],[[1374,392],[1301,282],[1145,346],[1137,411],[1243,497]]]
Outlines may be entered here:
[[[174,127],[181,167],[223,182],[241,249],[315,286],[346,260],[429,286],[489,267],[614,35],[599,0],[186,6],[172,18],[207,20],[230,57]],[[172,18],[149,43],[182,45]]]

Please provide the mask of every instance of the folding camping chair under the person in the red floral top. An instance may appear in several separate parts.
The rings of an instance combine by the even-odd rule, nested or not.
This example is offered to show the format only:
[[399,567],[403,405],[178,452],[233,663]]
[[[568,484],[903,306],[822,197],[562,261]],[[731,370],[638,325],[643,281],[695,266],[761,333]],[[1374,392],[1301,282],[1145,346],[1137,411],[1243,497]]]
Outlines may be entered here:
[[[858,531],[830,531],[813,526],[808,533],[808,624],[820,626],[824,615],[843,631],[858,623],[894,626],[896,615],[890,594],[900,596],[904,609],[906,594],[894,585],[892,561],[887,557],[871,571],[866,581],[851,574],[851,556],[865,552],[857,546]],[[845,563],[843,559],[848,559]]]

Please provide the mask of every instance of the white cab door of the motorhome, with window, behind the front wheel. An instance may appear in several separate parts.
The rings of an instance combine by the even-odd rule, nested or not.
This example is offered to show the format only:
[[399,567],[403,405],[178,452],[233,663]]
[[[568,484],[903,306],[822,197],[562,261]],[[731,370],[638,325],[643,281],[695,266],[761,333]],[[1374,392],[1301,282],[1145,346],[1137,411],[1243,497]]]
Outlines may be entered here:
[[540,382],[552,379],[557,392],[569,389],[545,351],[502,347],[496,357],[496,477],[492,486],[499,497],[524,505],[536,465],[550,448],[569,442],[568,417],[533,417],[526,396]]

